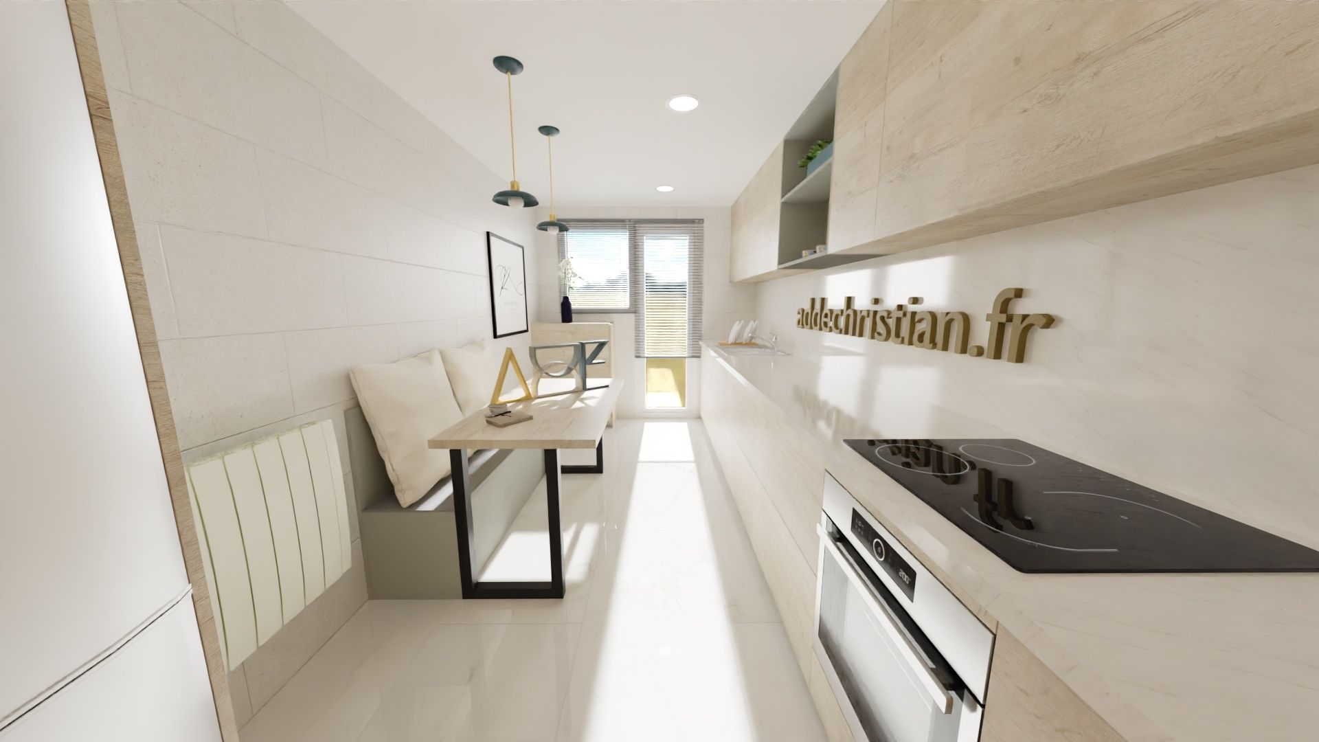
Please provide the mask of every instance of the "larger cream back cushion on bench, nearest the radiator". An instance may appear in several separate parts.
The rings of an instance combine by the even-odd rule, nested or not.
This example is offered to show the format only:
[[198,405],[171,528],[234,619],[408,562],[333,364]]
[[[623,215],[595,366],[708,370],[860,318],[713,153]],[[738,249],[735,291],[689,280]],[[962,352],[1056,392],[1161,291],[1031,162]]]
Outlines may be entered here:
[[426,441],[463,419],[438,350],[353,366],[352,388],[385,461],[394,496],[408,507],[448,475],[448,452]]

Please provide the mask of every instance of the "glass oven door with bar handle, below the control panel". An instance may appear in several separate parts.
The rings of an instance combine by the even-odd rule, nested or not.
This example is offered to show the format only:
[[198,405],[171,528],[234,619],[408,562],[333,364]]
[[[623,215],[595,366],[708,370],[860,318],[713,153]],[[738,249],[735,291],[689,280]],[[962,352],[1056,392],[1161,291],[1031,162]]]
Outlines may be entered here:
[[851,701],[853,733],[869,742],[956,741],[960,693],[894,621],[885,588],[871,584],[849,545],[822,536],[816,650]]

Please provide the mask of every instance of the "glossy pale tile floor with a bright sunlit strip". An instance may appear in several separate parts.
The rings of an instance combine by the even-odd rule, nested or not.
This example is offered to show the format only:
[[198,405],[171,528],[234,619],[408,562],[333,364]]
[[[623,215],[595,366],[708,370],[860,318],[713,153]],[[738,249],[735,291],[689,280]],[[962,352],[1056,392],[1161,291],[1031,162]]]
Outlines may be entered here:
[[[243,742],[824,739],[700,421],[605,457],[563,477],[565,599],[371,601]],[[537,492],[499,558],[543,523]]]

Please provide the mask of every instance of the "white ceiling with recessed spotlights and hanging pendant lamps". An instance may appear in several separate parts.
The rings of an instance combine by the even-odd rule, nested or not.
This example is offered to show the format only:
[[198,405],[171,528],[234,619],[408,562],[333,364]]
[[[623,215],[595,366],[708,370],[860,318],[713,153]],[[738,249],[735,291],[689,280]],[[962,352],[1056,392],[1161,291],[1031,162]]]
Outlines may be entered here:
[[[299,15],[501,177],[558,205],[728,206],[882,0],[293,0]],[[692,94],[700,107],[665,102]],[[662,194],[657,185],[674,186]],[[561,211],[563,211],[561,209]]]

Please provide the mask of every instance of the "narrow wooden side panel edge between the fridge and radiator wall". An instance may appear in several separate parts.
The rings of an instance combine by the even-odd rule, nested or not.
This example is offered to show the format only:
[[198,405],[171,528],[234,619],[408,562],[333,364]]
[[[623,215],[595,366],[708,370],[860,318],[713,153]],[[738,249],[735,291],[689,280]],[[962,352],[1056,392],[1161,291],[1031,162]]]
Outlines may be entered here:
[[137,350],[142,356],[146,391],[150,395],[152,412],[156,416],[161,458],[169,482],[170,503],[174,507],[174,524],[178,528],[179,547],[183,551],[183,566],[187,570],[189,582],[193,584],[193,610],[197,613],[198,631],[202,635],[202,651],[206,655],[211,693],[215,696],[215,716],[224,741],[237,742],[239,729],[233,718],[233,702],[230,698],[228,671],[211,607],[211,584],[207,581],[206,568],[202,564],[202,551],[198,545],[193,519],[193,503],[183,477],[183,457],[179,453],[178,432],[174,428],[174,412],[170,408],[169,391],[165,388],[165,370],[161,366],[160,346],[156,339],[156,322],[152,318],[152,306],[146,297],[146,280],[142,276],[137,231],[133,227],[128,187],[124,185],[119,144],[115,140],[115,121],[109,115],[109,99],[106,94],[106,77],[100,67],[100,51],[96,48],[96,32],[91,22],[91,8],[87,0],[67,0],[65,7],[69,12],[78,66],[82,71],[83,91],[87,95],[87,112],[91,118],[92,133],[96,137],[96,152],[100,156],[102,178],[106,185],[106,197],[109,201],[109,217],[115,227],[115,240],[119,243],[124,284],[128,288],[128,304],[137,330]]

